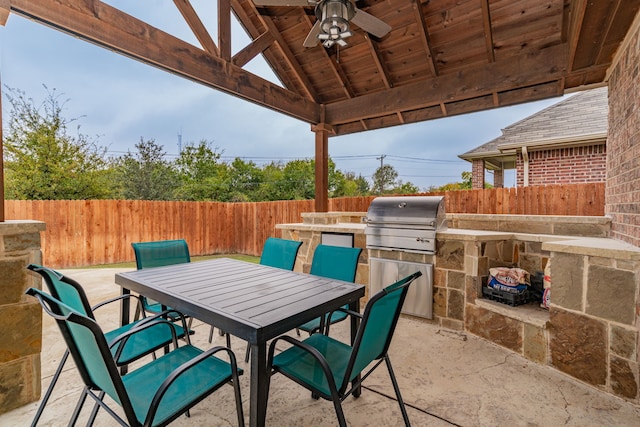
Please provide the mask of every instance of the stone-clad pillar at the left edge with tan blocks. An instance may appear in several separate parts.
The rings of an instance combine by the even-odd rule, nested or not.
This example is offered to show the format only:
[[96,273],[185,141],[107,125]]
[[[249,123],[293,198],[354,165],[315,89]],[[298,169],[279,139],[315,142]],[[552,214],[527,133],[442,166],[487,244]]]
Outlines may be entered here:
[[41,263],[43,222],[0,222],[0,413],[40,398],[42,309],[25,295],[40,280],[27,274],[29,263]]

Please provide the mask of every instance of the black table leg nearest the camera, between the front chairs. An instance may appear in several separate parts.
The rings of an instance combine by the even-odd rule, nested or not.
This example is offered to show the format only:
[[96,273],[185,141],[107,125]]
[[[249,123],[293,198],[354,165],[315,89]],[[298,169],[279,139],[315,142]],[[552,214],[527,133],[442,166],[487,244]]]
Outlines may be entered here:
[[269,397],[267,372],[267,344],[251,344],[251,393],[249,399],[249,425],[264,426]]

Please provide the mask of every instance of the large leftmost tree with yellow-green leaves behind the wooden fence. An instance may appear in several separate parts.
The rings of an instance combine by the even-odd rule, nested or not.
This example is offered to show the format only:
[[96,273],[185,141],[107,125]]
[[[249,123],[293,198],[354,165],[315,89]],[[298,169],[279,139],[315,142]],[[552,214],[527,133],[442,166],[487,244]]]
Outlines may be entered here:
[[35,200],[103,199],[111,196],[104,148],[80,133],[69,135],[75,119],[62,116],[67,102],[55,89],[36,105],[7,88],[11,105],[4,138],[6,197]]

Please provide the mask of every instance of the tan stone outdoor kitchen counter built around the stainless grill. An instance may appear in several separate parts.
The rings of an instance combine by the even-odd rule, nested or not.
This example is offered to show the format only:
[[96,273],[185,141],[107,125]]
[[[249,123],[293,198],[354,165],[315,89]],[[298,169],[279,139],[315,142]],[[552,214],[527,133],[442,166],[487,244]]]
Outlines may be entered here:
[[[417,319],[481,336],[640,403],[640,249],[608,238],[609,218],[447,213],[448,228],[436,233],[430,255],[366,250],[366,216],[305,213],[302,223],[276,228],[283,238],[303,242],[299,271],[309,271],[322,233],[352,234],[354,246],[364,249],[357,283],[369,284],[371,258],[432,264],[433,316]],[[489,268],[519,267],[534,275],[549,260],[549,310],[538,303],[512,307],[482,297]]]

